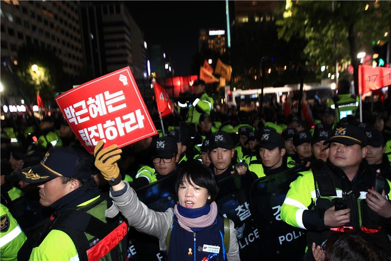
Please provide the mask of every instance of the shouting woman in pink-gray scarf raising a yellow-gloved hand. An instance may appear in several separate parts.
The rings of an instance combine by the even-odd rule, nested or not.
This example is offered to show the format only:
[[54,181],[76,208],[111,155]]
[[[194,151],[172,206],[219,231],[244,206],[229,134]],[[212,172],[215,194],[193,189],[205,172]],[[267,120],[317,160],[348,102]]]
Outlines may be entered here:
[[121,211],[131,226],[159,239],[167,260],[206,261],[239,259],[236,230],[232,220],[217,214],[218,187],[211,171],[198,161],[188,162],[177,177],[178,202],[174,209],[156,212],[138,198],[127,182],[121,180],[116,161],[121,150],[116,145],[95,147],[95,166],[111,185],[113,205],[106,215]]

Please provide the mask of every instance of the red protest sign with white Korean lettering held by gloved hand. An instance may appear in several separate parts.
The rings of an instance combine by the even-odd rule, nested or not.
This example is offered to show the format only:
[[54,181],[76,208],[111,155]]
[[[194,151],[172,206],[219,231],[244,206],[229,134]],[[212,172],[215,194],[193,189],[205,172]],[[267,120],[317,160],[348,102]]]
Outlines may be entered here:
[[56,97],[70,128],[89,153],[103,139],[118,148],[157,134],[129,66]]

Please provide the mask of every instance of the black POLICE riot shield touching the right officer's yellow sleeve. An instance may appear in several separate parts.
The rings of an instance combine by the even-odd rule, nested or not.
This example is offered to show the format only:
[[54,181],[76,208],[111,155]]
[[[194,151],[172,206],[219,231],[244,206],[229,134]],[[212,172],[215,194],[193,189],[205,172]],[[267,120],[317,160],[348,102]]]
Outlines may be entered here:
[[305,230],[281,219],[281,206],[289,184],[298,177],[300,167],[257,179],[251,189],[251,211],[261,235],[265,260],[300,261],[306,246]]

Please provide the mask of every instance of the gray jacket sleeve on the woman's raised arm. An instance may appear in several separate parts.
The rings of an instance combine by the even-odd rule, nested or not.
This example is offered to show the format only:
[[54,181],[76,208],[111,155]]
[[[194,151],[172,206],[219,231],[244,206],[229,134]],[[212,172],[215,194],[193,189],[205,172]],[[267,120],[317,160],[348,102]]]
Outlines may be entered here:
[[137,198],[136,192],[129,186],[128,182],[124,183],[127,187],[125,194],[113,197],[110,191],[113,205],[106,212],[106,216],[113,216],[119,210],[128,220],[130,226],[158,238],[160,250],[165,250],[167,232],[173,222],[173,208],[169,208],[165,212],[156,212],[149,209]]

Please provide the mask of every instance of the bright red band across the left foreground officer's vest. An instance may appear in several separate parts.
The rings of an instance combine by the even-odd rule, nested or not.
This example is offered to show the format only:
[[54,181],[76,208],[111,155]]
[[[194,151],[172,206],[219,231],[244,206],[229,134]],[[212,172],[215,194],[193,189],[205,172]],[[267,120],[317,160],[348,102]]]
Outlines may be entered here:
[[128,232],[128,225],[122,222],[116,229],[110,232],[104,239],[87,250],[88,261],[99,260],[110,252]]

